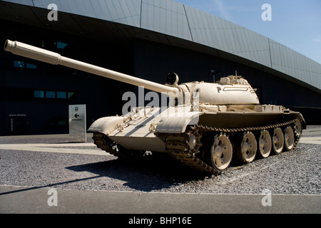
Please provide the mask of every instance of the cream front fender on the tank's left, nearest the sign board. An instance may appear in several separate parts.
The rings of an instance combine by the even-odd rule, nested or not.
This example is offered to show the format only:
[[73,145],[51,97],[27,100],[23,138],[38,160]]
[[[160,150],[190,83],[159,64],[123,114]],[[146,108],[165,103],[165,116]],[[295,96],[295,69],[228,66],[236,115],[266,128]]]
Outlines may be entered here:
[[116,128],[118,128],[118,125],[121,125],[123,123],[125,118],[122,116],[108,116],[99,118],[93,124],[90,128],[88,128],[89,132],[99,132],[104,133],[106,135],[112,133]]

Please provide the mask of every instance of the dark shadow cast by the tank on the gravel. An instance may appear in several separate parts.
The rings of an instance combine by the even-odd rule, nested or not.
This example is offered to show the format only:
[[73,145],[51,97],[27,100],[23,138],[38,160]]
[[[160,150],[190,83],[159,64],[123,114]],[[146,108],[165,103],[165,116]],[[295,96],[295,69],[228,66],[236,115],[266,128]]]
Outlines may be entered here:
[[111,177],[121,180],[124,186],[132,190],[151,192],[175,187],[184,182],[203,180],[208,177],[204,172],[190,170],[171,157],[144,157],[135,162],[123,162],[120,159],[95,162],[66,167],[74,172],[91,172],[98,177]]

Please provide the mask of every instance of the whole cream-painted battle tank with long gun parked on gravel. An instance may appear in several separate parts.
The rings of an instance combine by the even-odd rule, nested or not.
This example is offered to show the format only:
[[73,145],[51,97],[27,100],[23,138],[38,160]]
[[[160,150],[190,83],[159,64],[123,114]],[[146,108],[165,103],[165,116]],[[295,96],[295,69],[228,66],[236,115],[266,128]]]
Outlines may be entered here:
[[176,73],[169,73],[162,85],[18,41],[7,40],[4,49],[158,92],[150,94],[153,98],[168,95],[168,104],[161,107],[127,104],[123,115],[93,122],[88,132],[93,133],[94,143],[117,157],[165,152],[192,169],[219,174],[232,160],[247,164],[256,157],[295,150],[306,127],[301,113],[260,104],[255,88],[237,73],[215,83],[181,84]]

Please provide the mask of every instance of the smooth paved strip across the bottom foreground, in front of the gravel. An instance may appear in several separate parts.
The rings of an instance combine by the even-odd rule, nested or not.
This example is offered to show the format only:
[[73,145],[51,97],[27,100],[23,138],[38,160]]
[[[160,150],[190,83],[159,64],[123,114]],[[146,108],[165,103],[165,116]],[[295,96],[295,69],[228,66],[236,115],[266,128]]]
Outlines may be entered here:
[[[52,189],[0,186],[0,213],[321,213],[321,195],[268,195],[268,192],[263,195],[217,195],[62,189],[49,192],[49,190]],[[57,206],[54,205],[55,202]]]

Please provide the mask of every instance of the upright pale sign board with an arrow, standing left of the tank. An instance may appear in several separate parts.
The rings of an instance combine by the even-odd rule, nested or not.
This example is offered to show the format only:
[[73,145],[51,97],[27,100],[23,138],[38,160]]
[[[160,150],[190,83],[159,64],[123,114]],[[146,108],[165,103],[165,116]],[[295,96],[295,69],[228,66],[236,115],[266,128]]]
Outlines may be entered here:
[[69,142],[87,142],[86,105],[69,105]]

